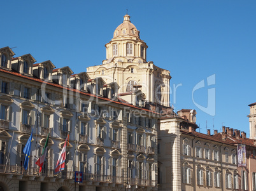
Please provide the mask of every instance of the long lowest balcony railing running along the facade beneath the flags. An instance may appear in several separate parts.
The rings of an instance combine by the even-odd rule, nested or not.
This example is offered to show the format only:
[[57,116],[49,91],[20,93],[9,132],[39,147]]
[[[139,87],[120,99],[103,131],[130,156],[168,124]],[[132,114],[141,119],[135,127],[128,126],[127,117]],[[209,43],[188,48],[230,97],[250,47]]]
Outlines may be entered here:
[[[39,167],[32,168],[29,166],[27,171],[24,171],[23,166],[17,165],[5,165],[0,164],[0,174],[11,174],[11,175],[29,175],[29,176],[45,176],[49,178],[62,178],[62,179],[69,179],[73,180],[75,177],[74,171],[61,171],[57,175],[53,173],[54,169],[43,169],[41,173],[39,173]],[[148,186],[148,187],[155,187],[155,180],[143,180],[139,178],[125,178],[122,176],[110,176],[110,175],[96,175],[90,173],[83,173],[83,180],[86,181],[97,181],[102,183],[118,183],[118,184],[125,184],[128,183],[129,185],[138,185],[138,186]]]

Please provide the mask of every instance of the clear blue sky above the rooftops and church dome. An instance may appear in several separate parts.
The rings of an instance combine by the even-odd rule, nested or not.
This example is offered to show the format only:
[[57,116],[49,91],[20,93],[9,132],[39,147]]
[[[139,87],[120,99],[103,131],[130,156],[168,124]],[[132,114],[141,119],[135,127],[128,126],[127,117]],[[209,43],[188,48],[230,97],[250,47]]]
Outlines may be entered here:
[[[148,44],[147,60],[171,71],[171,102],[176,110],[196,109],[206,133],[222,124],[249,134],[248,104],[256,102],[256,1],[2,1],[1,47],[15,56],[31,53],[82,72],[106,58],[104,44],[113,37],[128,8],[131,21]],[[214,116],[192,102],[192,89],[215,74]],[[207,84],[207,83],[206,83]],[[207,107],[208,88],[194,100]],[[175,102],[174,102],[175,101]]]

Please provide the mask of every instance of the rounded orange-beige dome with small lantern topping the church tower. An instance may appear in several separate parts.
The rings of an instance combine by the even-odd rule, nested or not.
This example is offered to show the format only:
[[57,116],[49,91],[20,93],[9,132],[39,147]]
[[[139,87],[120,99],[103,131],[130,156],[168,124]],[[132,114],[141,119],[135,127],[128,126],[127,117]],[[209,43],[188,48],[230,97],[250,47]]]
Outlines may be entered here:
[[123,23],[115,29],[114,38],[121,36],[134,36],[139,38],[139,30],[131,23],[129,15],[124,15]]

